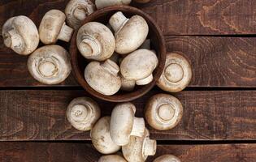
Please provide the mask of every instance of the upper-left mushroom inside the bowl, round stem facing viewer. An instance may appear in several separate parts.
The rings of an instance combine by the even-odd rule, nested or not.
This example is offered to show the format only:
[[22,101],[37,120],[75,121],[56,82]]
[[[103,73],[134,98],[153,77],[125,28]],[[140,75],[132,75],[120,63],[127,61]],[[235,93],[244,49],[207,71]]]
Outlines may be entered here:
[[115,51],[115,37],[104,24],[89,22],[79,29],[76,45],[85,58],[104,61]]

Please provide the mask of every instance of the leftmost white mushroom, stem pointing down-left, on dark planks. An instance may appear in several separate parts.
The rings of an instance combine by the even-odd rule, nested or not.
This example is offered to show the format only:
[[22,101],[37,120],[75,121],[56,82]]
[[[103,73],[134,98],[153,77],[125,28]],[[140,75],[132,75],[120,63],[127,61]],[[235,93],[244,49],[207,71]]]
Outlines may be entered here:
[[8,19],[2,26],[2,37],[4,45],[21,55],[33,53],[39,44],[37,26],[24,15]]

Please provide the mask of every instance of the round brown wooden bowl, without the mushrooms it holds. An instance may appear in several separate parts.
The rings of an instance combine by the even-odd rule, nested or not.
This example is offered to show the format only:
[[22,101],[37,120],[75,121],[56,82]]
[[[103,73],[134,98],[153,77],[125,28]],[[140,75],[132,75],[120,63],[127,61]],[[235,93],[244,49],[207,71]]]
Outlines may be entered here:
[[86,62],[88,61],[80,54],[79,50],[76,47],[77,31],[72,36],[70,54],[72,58],[72,68],[75,73],[76,80],[78,81],[78,83],[80,83],[82,87],[85,88],[87,92],[102,100],[108,100],[111,102],[126,102],[130,100],[135,100],[145,95],[145,93],[149,92],[150,89],[154,87],[155,83],[157,82],[157,80],[159,79],[163,72],[166,59],[166,46],[163,39],[163,34],[160,28],[158,28],[158,25],[154,23],[154,19],[152,19],[150,15],[147,15],[143,11],[132,6],[110,6],[103,8],[101,10],[94,12],[92,15],[89,15],[85,19],[83,24],[92,21],[106,24],[108,23],[108,20],[111,18],[111,15],[114,15],[116,11],[122,11],[124,15],[127,17],[131,17],[132,15],[141,15],[149,25],[150,32],[148,38],[150,38],[151,40],[151,48],[154,49],[158,55],[158,66],[154,70],[154,79],[151,83],[145,86],[136,86],[133,92],[119,91],[113,96],[102,95],[101,93],[93,90],[93,88],[90,87],[89,84],[85,81],[84,71]]

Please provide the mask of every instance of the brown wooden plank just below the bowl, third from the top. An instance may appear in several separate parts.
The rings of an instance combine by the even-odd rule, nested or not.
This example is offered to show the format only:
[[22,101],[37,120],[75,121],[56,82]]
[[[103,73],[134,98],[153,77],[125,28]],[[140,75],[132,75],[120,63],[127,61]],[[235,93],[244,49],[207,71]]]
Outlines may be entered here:
[[[162,92],[155,88],[134,100],[137,116],[143,117],[145,102]],[[0,140],[89,140],[89,132],[72,128],[65,117],[67,104],[83,91],[0,91]],[[153,130],[153,139],[253,140],[256,139],[256,91],[188,91],[175,95],[184,105],[176,128]],[[115,103],[97,100],[102,116]],[[147,126],[149,127],[149,126]]]

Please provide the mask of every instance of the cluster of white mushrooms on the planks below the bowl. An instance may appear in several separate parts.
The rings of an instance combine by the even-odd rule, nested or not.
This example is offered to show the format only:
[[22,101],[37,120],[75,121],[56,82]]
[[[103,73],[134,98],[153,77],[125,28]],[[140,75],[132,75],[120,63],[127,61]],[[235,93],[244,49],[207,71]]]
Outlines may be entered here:
[[[90,130],[93,147],[102,156],[98,162],[144,162],[154,156],[157,142],[150,139],[145,120],[156,130],[170,130],[183,114],[183,107],[176,97],[167,94],[152,96],[145,105],[145,120],[135,117],[136,106],[130,102],[116,104],[111,117],[101,117],[97,102],[88,97],[78,97],[67,106],[67,120],[74,128]],[[122,150],[123,156],[115,154]],[[158,157],[154,162],[180,160],[171,155]]]

